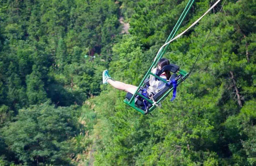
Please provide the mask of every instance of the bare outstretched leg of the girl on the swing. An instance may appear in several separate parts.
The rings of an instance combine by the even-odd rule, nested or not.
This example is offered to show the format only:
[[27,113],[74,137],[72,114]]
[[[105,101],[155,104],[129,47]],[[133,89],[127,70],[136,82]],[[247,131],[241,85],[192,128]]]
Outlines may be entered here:
[[114,88],[119,89],[119,90],[124,90],[126,92],[130,92],[131,94],[135,94],[136,90],[138,87],[130,84],[125,84],[120,81],[116,81],[111,79],[108,79],[107,82],[112,85]]

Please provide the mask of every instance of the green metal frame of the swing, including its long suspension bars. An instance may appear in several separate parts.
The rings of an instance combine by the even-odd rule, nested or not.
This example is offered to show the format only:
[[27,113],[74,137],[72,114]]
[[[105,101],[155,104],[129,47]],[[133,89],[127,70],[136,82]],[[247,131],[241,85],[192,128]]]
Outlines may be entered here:
[[[180,15],[180,17],[179,17],[177,23],[175,24],[175,26],[174,26],[172,32],[170,33],[170,35],[169,35],[169,37],[167,38],[167,40],[166,40],[165,43],[167,43],[168,41],[170,41],[170,40],[172,40],[172,39],[174,38],[174,36],[176,35],[176,33],[177,33],[177,31],[178,31],[180,25],[182,24],[183,20],[184,20],[185,17],[187,16],[187,14],[188,14],[190,8],[192,7],[192,5],[194,4],[194,2],[195,2],[195,0],[189,0],[189,1],[188,1],[187,5],[186,5],[186,7],[185,7],[185,9],[184,9],[184,11],[183,11],[182,14]],[[158,61],[164,56],[164,54],[165,54],[167,48],[169,47],[169,45],[170,45],[170,44],[167,44],[167,45],[166,45],[165,47],[163,47],[162,50],[159,52],[159,54],[157,55],[156,59],[154,60],[154,62],[153,62],[152,65],[150,66],[150,68],[148,69],[146,75],[145,75],[144,78],[142,79],[140,85],[138,86],[138,88],[137,88],[137,90],[136,90],[136,93],[133,94],[131,100],[124,99],[124,102],[125,102],[127,105],[129,105],[129,106],[131,106],[132,108],[134,108],[135,110],[141,112],[143,115],[146,115],[146,114],[152,112],[152,111],[156,108],[156,105],[151,106],[151,107],[149,108],[149,111],[148,111],[147,113],[145,113],[144,110],[142,110],[140,107],[136,106],[136,104],[135,104],[135,96],[136,96],[136,95],[139,95],[139,96],[141,96],[142,98],[144,98],[145,100],[147,100],[148,102],[150,102],[151,104],[154,103],[154,102],[151,101],[150,99],[148,99],[148,98],[144,97],[143,95],[141,95],[140,93],[138,93],[138,91],[139,91],[139,89],[140,89],[141,86],[144,86],[144,80],[145,80],[146,78],[148,78],[150,75],[153,75],[153,76],[155,76],[156,78],[158,78],[158,79],[164,81],[165,83],[167,83],[167,81],[165,81],[165,80],[163,80],[162,78],[160,78],[160,77],[156,76],[155,74],[153,74],[153,73],[151,72],[151,69],[152,69],[153,67],[155,67],[155,66],[157,65]],[[182,69],[180,69],[180,70],[178,71],[178,73],[181,74],[183,77],[178,80],[177,85],[181,84],[181,82],[183,82],[183,81],[188,77],[188,75],[189,75],[186,71],[184,71],[184,70],[182,70]],[[171,91],[173,91],[173,88],[170,88],[169,90],[167,90],[167,92],[165,92],[165,94],[164,94],[158,101],[156,101],[156,104],[158,104],[158,103],[161,102],[163,99],[165,99],[165,98],[169,95],[169,93],[170,93]]]

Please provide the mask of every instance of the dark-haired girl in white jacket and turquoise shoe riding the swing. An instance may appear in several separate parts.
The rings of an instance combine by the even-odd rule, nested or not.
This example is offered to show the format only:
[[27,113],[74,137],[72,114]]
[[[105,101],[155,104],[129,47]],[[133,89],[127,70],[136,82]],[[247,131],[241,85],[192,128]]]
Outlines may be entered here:
[[[170,62],[168,59],[166,58],[162,58],[159,60],[157,67],[152,69],[152,73],[156,74],[157,71],[161,70],[162,67],[164,67],[165,65],[169,65]],[[170,72],[163,72],[160,77],[163,79],[169,79],[171,76]],[[110,84],[112,85],[114,88],[119,89],[119,90],[123,90],[126,92],[130,92],[131,94],[135,94],[136,90],[138,87],[134,86],[134,85],[130,85],[130,84],[125,84],[123,82],[120,81],[116,81],[114,79],[112,79],[112,77],[109,75],[108,70],[104,70],[102,73],[102,82],[103,84]],[[161,80],[156,80],[156,77],[154,76],[150,76],[150,81],[149,81],[149,88],[150,90],[155,94],[156,92],[158,92],[159,90],[161,90],[164,86],[165,86],[165,82],[161,81]]]

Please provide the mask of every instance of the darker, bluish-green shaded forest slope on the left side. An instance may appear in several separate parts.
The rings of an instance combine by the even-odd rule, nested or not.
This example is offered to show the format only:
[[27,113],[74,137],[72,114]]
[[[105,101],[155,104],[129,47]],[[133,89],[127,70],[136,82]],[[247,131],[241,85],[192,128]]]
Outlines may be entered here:
[[[86,151],[87,143],[66,143],[74,137],[83,141],[80,137],[89,131],[72,120],[81,118],[83,110],[72,105],[81,106],[100,93],[99,73],[108,66],[120,36],[118,18],[119,5],[113,1],[0,2],[3,161],[66,165]],[[48,123],[49,129],[43,128]]]

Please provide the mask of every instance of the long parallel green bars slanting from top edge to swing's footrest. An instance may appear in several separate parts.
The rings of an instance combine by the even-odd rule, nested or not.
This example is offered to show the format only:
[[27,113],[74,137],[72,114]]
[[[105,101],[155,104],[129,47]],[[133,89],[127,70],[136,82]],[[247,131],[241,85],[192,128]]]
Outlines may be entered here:
[[[192,1],[192,3],[190,3],[191,1]],[[180,16],[180,18],[178,19],[177,23],[176,23],[175,26],[174,26],[174,27],[177,27],[176,30],[174,31],[175,28],[173,28],[172,32],[174,31],[174,33],[172,34],[172,32],[171,32],[172,35],[170,34],[169,36],[172,36],[172,38],[175,36],[175,34],[177,33],[177,31],[178,31],[178,29],[179,29],[181,23],[182,23],[183,20],[185,19],[185,17],[186,17],[186,15],[187,15],[188,11],[190,10],[190,8],[192,7],[192,5],[193,5],[194,2],[195,2],[195,0],[189,0],[189,2],[188,2],[188,4],[186,5],[186,7],[185,7],[185,9],[184,9],[184,11],[183,11],[183,13],[182,13],[182,15]],[[190,5],[189,5],[189,4],[190,4]],[[189,8],[187,8],[188,5],[189,5]],[[185,11],[186,11],[186,12],[185,12]],[[185,15],[184,15],[184,12],[185,12]],[[183,15],[184,15],[184,16],[183,16]],[[182,17],[183,17],[183,18],[182,18]],[[181,18],[182,18],[182,19],[181,19]],[[180,19],[181,19],[181,20],[180,20]],[[169,38],[169,37],[168,37],[168,38]],[[168,40],[168,39],[167,39],[167,40]],[[166,41],[167,41],[167,40],[166,40]],[[168,41],[169,41],[169,40],[168,40]],[[168,46],[169,46],[169,44],[164,47],[164,48],[165,48],[165,51],[166,51],[166,49],[167,49]],[[164,53],[165,53],[165,51],[164,51]],[[156,60],[152,63],[152,65],[151,65],[150,68],[148,69],[146,75],[145,75],[144,78],[142,79],[142,81],[141,81],[140,85],[138,86],[136,92],[140,89],[141,85],[144,83],[144,80],[148,77],[149,72],[151,71],[152,67],[157,64],[157,62],[159,61],[159,59],[161,59],[161,58],[163,57],[164,53],[161,54],[161,52],[160,52],[160,54],[157,55]],[[160,55],[160,56],[159,56],[159,55]],[[136,94],[133,94],[131,100],[129,101],[129,104],[132,103],[132,101],[133,101],[134,98],[135,98],[135,95],[136,95]]]

